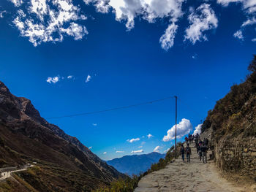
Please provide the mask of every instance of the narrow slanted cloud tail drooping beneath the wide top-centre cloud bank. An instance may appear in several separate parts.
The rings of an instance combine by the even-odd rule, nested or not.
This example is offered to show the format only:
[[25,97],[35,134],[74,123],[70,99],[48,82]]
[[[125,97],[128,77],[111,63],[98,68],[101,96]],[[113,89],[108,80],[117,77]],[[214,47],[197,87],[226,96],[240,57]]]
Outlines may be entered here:
[[175,23],[170,24],[165,30],[165,34],[160,38],[159,42],[164,50],[169,50],[170,47],[173,47],[177,28],[178,26]]

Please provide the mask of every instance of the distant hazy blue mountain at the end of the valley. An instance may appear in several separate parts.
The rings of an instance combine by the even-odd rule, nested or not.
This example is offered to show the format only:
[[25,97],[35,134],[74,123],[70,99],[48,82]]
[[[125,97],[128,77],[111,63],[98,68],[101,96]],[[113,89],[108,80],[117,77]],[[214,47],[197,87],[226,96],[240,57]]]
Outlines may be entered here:
[[160,158],[165,158],[165,154],[153,152],[143,155],[126,155],[122,158],[114,158],[107,161],[110,166],[115,167],[118,172],[125,174],[140,174],[150,169],[151,164],[155,164]]

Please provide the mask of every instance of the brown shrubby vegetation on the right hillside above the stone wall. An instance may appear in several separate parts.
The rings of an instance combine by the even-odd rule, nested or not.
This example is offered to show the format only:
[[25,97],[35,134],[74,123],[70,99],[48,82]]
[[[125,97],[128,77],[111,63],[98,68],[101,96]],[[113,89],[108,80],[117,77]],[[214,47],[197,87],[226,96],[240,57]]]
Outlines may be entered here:
[[248,70],[246,80],[233,85],[230,92],[217,101],[214,110],[208,112],[202,132],[212,127],[217,140],[225,134],[256,136],[256,55]]

